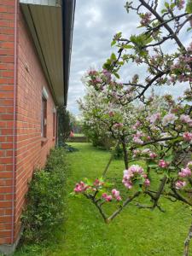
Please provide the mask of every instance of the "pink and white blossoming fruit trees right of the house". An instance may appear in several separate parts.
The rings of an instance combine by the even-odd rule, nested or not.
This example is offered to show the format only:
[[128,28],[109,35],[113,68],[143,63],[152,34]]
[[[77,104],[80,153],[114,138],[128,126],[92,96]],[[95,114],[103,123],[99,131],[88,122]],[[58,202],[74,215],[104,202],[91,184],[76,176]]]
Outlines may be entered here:
[[[112,158],[101,178],[77,183],[73,195],[83,195],[94,203],[106,223],[141,195],[147,195],[149,202],[137,203],[140,208],[164,211],[160,206],[162,196],[192,206],[192,44],[185,45],[182,36],[191,30],[192,2],[171,0],[163,9],[159,5],[157,0],[126,2],[127,12],[135,11],[139,16],[142,32],[130,38],[117,33],[111,44],[117,54],[108,58],[102,70],[90,70],[86,76],[88,97],[95,96],[99,104],[94,100],[81,102],[84,117],[90,126],[97,124],[122,144],[122,183],[128,195],[122,198],[119,190],[109,190],[112,184],[104,179]],[[122,83],[120,70],[130,64],[146,72],[142,78],[135,74]],[[163,104],[158,104],[154,96],[148,96],[154,87],[175,84],[188,86],[177,99],[166,94]],[[141,102],[140,107],[132,111],[137,102]],[[142,160],[143,165],[134,165],[137,160]],[[152,176],[158,185],[153,185]],[[110,216],[104,211],[108,202],[118,202]],[[184,255],[189,254],[191,237],[192,225]]]

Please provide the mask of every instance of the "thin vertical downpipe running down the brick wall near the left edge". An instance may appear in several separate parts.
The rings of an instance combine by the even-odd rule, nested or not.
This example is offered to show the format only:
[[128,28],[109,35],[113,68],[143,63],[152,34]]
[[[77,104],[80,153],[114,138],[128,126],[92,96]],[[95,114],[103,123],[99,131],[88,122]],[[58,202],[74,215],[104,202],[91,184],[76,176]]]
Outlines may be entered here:
[[11,243],[15,242],[15,153],[16,153],[16,92],[17,92],[17,12],[18,0],[15,0],[15,40],[14,40],[14,125],[13,125],[13,169],[12,169],[12,214]]

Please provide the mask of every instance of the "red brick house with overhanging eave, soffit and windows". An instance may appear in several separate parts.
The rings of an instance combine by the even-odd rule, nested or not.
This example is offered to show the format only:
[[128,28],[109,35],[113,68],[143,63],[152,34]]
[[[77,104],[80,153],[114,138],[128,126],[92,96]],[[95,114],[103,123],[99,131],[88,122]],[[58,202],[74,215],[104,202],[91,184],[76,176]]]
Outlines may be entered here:
[[67,104],[75,0],[0,0],[0,251],[20,237],[27,183]]

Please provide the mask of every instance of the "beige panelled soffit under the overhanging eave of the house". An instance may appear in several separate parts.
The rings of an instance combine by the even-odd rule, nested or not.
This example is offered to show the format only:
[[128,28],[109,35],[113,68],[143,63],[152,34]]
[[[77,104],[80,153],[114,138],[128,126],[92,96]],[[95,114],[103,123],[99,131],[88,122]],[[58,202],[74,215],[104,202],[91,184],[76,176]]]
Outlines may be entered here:
[[61,1],[20,0],[22,11],[55,100],[64,104]]

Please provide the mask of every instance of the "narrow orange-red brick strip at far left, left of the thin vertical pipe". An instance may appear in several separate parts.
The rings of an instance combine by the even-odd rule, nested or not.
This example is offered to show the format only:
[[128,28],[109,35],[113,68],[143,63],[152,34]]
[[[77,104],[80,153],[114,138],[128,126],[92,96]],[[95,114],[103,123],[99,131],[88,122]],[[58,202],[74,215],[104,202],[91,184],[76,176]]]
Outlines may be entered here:
[[0,244],[11,242],[15,1],[0,0]]

